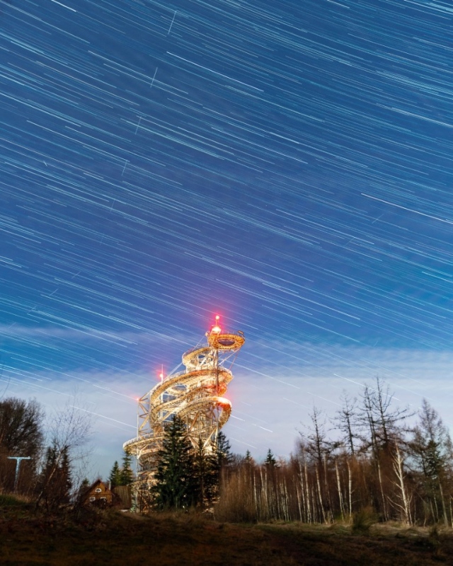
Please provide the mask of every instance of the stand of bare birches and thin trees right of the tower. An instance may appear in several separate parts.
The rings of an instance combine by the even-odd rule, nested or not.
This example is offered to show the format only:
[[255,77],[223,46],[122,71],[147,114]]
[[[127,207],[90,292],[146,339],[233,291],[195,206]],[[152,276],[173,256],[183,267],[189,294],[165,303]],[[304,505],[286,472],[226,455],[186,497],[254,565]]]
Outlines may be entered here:
[[428,401],[412,427],[379,379],[342,403],[330,421],[314,408],[289,461],[269,451],[261,465],[248,454],[225,467],[217,519],[330,523],[367,509],[380,521],[453,526],[452,441]]

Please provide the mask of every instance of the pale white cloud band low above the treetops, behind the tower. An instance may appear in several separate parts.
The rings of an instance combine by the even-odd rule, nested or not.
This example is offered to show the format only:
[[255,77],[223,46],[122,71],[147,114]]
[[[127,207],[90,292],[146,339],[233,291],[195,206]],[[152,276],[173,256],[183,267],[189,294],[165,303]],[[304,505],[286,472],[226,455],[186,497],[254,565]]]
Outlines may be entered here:
[[[453,352],[305,344],[299,348],[297,363],[296,351],[292,350],[291,359],[279,347],[275,344],[274,351],[280,352],[280,361],[275,354],[266,359],[266,348],[260,352],[261,364],[255,362],[253,370],[246,369],[241,362],[251,352],[246,356],[244,350],[233,366],[234,380],[226,394],[233,411],[224,432],[239,454],[249,449],[260,459],[270,448],[279,456],[289,456],[298,431],[310,423],[314,405],[326,417],[333,417],[340,409],[343,391],[360,397],[363,384],[373,386],[376,376],[394,393],[394,405],[408,405],[416,411],[425,397],[453,429]],[[315,364],[309,356],[315,358],[318,353]],[[144,371],[73,371],[64,375],[44,372],[25,379],[4,372],[0,393],[33,396],[48,413],[69,402],[93,417],[95,460],[98,471],[105,475],[113,461],[121,457],[122,444],[136,434],[137,398],[157,382],[157,376]]]

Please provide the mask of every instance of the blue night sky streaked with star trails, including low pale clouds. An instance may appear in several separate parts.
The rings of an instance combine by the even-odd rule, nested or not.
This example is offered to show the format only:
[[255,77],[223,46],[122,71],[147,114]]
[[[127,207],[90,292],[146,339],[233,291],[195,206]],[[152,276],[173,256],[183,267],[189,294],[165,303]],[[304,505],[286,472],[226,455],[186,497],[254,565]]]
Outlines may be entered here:
[[453,429],[452,12],[0,1],[0,395],[94,413],[105,475],[219,313],[236,452],[375,376]]

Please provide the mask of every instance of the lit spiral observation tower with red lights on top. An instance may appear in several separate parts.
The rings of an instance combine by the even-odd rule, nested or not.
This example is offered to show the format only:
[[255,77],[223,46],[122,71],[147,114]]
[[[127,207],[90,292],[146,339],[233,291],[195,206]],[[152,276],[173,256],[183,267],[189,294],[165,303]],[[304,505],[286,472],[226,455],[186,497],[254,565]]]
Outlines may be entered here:
[[231,366],[245,339],[240,331],[222,330],[219,318],[206,333],[207,343],[183,354],[185,371],[161,374],[161,382],[138,401],[137,437],[123,445],[137,457],[138,483],[152,481],[157,452],[173,415],[185,423],[194,448],[201,438],[208,450],[229,419],[231,402],[224,395],[233,379]]

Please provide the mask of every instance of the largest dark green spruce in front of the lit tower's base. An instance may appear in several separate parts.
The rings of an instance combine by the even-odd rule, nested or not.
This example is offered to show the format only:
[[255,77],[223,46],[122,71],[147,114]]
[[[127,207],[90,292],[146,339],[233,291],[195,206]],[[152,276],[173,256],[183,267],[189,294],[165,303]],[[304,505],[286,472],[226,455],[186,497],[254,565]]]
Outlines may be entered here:
[[151,495],[157,509],[192,507],[199,499],[193,449],[183,421],[173,415],[165,429]]

